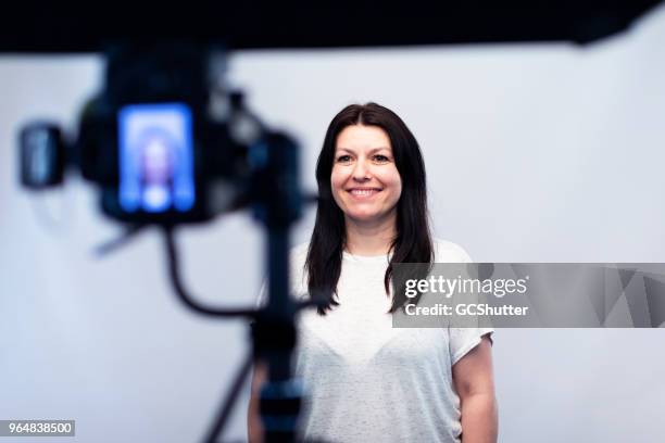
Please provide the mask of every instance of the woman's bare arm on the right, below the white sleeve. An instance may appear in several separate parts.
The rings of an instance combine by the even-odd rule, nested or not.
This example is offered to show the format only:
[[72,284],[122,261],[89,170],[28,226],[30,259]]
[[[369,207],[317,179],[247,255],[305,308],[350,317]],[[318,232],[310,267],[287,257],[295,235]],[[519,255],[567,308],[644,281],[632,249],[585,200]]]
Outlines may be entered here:
[[462,442],[495,443],[499,418],[487,336],[453,365],[453,382],[462,406]]

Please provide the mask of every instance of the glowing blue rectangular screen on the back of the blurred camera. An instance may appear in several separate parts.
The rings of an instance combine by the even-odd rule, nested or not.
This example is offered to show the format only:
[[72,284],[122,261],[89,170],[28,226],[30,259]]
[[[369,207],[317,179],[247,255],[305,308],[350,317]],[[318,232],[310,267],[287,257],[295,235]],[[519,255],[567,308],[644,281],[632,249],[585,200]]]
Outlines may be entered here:
[[118,113],[118,201],[127,213],[187,212],[196,203],[192,116],[183,103]]

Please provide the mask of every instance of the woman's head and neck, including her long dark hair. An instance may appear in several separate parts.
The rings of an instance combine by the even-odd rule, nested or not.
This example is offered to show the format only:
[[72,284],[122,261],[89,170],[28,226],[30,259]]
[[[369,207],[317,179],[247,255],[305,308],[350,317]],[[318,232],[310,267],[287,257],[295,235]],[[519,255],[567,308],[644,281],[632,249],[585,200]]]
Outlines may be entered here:
[[[396,113],[376,103],[340,111],[328,126],[316,181],[321,200],[306,258],[308,288],[328,294],[328,307],[337,304],[332,295],[343,252],[390,252],[386,293],[392,263],[432,262],[425,163],[418,142]],[[393,302],[391,312],[403,304]]]

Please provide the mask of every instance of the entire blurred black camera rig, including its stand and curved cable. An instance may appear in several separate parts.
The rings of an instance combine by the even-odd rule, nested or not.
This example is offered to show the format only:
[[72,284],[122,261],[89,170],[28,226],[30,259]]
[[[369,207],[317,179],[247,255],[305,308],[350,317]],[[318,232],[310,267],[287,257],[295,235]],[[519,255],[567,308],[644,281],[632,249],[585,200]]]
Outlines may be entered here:
[[[294,441],[302,393],[290,378],[294,315],[316,307],[289,296],[289,228],[308,199],[300,188],[299,147],[268,130],[224,83],[222,53],[200,45],[116,45],[105,53],[103,87],[84,106],[77,137],[37,122],[20,135],[21,181],[33,190],[62,185],[80,172],[100,191],[102,212],[127,224],[108,253],[147,226],[161,228],[168,277],[180,301],[209,317],[255,321],[253,354],[243,364],[206,441],[222,433],[254,358],[272,368],[263,395],[266,441]],[[265,228],[269,302],[229,308],[200,303],[180,275],[175,228],[249,207]],[[266,333],[267,332],[267,333]],[[286,389],[286,390],[285,390]],[[271,409],[272,407],[272,409]]]

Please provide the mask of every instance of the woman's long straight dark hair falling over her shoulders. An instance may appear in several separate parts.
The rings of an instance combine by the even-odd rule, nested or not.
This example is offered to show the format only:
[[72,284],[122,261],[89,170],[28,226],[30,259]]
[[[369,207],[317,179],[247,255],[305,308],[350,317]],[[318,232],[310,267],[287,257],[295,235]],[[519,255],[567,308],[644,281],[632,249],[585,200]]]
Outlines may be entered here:
[[[318,206],[305,271],[308,289],[313,298],[328,300],[319,307],[321,315],[337,306],[337,282],[341,273],[347,241],[344,214],[332,198],[330,175],[335,163],[337,137],[352,125],[378,126],[386,131],[392,145],[392,155],[402,180],[402,193],[397,203],[397,236],[390,250],[392,257],[386,270],[384,286],[389,295],[394,263],[431,263],[434,248],[428,224],[425,163],[415,137],[404,122],[392,111],[376,103],[351,104],[332,118],[316,162]],[[394,291],[390,312],[404,305],[403,291]]]

